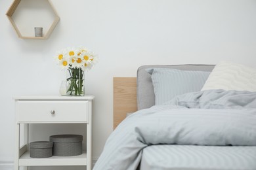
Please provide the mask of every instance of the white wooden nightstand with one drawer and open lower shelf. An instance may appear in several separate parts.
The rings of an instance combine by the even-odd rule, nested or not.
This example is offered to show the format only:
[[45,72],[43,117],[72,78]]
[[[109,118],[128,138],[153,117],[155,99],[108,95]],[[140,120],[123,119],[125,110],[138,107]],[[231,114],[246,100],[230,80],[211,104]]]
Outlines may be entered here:
[[[14,97],[16,112],[16,141],[14,170],[20,166],[86,165],[92,169],[92,101],[93,95],[68,96],[21,96]],[[21,131],[24,124],[24,131]],[[86,124],[86,150],[79,156],[53,156],[30,158],[29,124]],[[47,125],[46,125],[47,126]],[[22,136],[23,135],[23,136]],[[20,139],[25,144],[20,146]]]

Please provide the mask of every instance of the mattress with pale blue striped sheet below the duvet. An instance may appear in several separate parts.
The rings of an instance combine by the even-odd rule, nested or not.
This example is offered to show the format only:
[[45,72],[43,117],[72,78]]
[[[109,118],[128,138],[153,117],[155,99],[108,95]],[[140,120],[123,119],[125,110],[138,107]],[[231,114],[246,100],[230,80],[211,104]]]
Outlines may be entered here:
[[256,146],[152,145],[143,149],[140,170],[255,170]]

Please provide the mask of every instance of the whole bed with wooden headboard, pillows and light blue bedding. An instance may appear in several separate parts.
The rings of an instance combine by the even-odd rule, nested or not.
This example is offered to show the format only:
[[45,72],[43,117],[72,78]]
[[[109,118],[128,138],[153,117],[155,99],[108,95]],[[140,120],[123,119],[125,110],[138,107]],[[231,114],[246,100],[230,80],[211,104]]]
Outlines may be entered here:
[[114,78],[115,130],[94,169],[256,169],[255,81],[226,62]]

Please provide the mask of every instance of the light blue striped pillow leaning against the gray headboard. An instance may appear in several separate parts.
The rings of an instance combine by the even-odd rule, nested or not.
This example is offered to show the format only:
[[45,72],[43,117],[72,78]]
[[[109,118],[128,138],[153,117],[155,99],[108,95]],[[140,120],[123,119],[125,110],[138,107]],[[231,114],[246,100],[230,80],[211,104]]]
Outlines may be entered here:
[[146,71],[152,78],[156,105],[161,105],[176,95],[200,91],[211,73],[166,68],[146,69]]

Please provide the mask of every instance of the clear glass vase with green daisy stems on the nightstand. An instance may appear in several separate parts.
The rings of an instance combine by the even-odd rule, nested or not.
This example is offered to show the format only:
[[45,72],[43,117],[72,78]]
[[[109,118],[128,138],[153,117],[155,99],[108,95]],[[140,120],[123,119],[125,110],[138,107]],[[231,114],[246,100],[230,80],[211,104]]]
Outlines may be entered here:
[[79,68],[69,68],[66,78],[66,95],[85,95],[84,71]]

